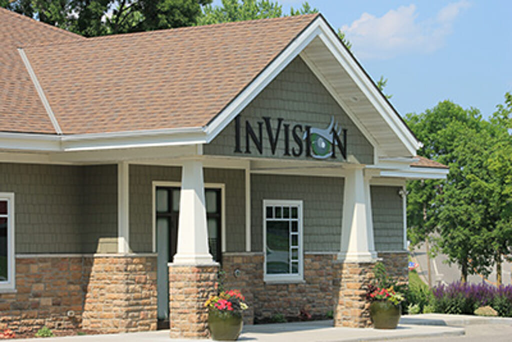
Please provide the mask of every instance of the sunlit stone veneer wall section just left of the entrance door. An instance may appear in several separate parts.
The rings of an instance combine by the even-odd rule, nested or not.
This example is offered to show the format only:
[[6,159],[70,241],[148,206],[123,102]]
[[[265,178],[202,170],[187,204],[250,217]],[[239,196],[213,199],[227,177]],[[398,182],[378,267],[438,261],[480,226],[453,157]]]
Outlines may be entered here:
[[102,333],[157,329],[156,257],[91,260],[82,326]]

